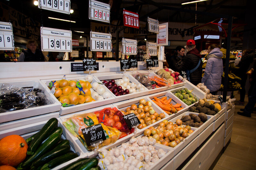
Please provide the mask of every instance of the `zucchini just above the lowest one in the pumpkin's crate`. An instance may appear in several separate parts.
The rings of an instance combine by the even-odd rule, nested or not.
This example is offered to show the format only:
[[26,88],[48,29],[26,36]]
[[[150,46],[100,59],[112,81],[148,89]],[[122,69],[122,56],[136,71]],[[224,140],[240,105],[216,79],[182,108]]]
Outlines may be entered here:
[[46,154],[44,154],[43,156],[41,156],[40,158],[38,158],[32,164],[32,166],[43,165],[43,164],[49,162],[50,160],[52,160],[53,158],[57,158],[58,156],[66,154],[68,151],[70,151],[69,145],[63,145],[62,147],[55,148],[52,151],[49,151]]

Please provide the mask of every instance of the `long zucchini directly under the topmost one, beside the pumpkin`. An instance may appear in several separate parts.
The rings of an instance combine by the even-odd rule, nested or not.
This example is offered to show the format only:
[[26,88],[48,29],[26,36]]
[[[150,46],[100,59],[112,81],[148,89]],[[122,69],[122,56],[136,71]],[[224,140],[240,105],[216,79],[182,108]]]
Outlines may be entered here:
[[60,139],[61,139],[61,134],[59,133],[52,134],[51,137],[45,143],[43,143],[38,148],[38,150],[35,151],[34,155],[30,156],[28,160],[21,163],[21,168],[26,168],[31,166],[35,160],[37,160],[42,155],[47,153],[47,151],[49,151],[50,148],[52,148],[56,143],[58,143]]

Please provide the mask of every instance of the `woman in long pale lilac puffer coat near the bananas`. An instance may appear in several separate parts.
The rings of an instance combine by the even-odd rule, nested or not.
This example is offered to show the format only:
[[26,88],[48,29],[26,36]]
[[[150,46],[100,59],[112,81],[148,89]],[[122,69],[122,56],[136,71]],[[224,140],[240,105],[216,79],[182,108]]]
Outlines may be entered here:
[[223,53],[217,44],[211,44],[208,47],[207,64],[201,83],[206,85],[212,95],[216,95],[221,85],[221,75],[223,74],[222,56]]

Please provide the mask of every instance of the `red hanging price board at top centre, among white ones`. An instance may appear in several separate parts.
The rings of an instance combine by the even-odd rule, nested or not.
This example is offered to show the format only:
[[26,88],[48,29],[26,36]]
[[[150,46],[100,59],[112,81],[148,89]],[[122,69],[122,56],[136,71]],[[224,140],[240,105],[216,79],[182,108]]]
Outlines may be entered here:
[[124,10],[124,26],[139,28],[139,14],[131,11]]

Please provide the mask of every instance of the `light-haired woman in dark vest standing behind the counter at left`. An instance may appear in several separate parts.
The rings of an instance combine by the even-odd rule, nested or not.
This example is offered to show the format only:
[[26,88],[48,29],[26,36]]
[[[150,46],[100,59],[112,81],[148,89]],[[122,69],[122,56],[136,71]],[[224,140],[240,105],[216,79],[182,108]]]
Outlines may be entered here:
[[41,50],[37,49],[38,44],[35,40],[29,40],[27,43],[28,50],[23,50],[18,61],[38,62],[45,61],[45,57]]

